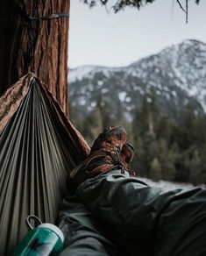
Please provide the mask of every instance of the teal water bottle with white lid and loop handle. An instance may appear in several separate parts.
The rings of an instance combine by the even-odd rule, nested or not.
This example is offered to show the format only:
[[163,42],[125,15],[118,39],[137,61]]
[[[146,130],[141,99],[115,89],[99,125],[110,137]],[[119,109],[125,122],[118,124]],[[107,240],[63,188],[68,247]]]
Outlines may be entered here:
[[[37,219],[39,226],[33,228],[30,219]],[[42,224],[38,217],[30,215],[27,217],[27,224],[31,227],[18,247],[13,252],[13,256],[47,256],[59,255],[63,250],[64,235],[54,224]]]

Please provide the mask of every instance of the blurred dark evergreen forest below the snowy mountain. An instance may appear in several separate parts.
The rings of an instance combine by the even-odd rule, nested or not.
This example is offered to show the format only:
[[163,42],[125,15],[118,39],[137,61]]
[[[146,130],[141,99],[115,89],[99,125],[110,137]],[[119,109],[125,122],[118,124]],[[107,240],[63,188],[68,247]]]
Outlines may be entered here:
[[179,116],[160,116],[154,98],[145,98],[131,122],[125,120],[121,110],[113,117],[101,98],[86,117],[77,107],[71,110],[72,121],[89,145],[104,128],[124,125],[136,152],[131,168],[140,176],[155,181],[206,183],[206,117],[191,104]]

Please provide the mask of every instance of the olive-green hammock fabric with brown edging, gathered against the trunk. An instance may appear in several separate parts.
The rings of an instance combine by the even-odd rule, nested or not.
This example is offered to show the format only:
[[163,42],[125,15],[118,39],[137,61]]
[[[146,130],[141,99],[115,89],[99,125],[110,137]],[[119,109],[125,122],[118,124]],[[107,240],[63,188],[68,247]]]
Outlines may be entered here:
[[35,75],[0,98],[0,255],[28,231],[25,219],[54,223],[68,172],[89,146]]

